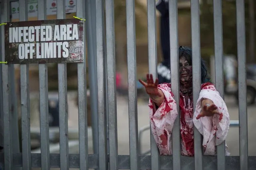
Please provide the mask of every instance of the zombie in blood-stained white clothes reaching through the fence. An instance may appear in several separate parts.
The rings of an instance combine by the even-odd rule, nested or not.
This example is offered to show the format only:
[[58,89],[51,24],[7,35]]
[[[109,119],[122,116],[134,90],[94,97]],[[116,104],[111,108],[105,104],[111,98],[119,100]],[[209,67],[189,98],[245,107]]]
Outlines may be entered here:
[[[179,87],[180,87],[180,132],[181,155],[194,156],[195,126],[203,136],[204,155],[216,155],[216,146],[221,144],[228,134],[230,118],[228,109],[210,76],[206,63],[201,59],[201,91],[193,111],[192,93],[192,51],[189,47],[179,47]],[[177,117],[177,105],[171,92],[171,83],[158,84],[158,79],[147,74],[144,85],[149,99],[149,117],[152,134],[161,155],[172,154],[172,128]],[[226,155],[227,152],[226,146]]]

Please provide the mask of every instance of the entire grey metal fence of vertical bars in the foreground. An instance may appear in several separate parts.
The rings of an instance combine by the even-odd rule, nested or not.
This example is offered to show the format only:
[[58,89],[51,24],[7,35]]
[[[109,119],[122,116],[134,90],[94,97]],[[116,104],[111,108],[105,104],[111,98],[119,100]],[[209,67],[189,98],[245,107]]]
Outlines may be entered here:
[[[19,0],[20,21],[28,20],[28,0]],[[222,43],[222,0],[214,0],[214,44],[215,44],[215,82],[216,88],[224,97],[223,84],[223,43]],[[65,18],[65,0],[57,0],[57,18]],[[117,154],[117,109],[115,91],[115,30],[114,0],[77,0],[77,16],[87,14],[86,34],[88,36],[89,69],[96,73],[91,76],[91,94],[97,120],[94,122],[95,154],[88,154],[87,111],[86,111],[86,62],[77,64],[79,91],[79,154],[69,154],[67,125],[67,66],[58,64],[58,95],[60,119],[60,154],[49,153],[48,127],[48,82],[47,66],[39,64],[40,80],[40,142],[41,153],[32,153],[30,147],[30,108],[29,108],[29,65],[20,65],[21,115],[22,115],[22,152],[16,152],[14,146],[17,115],[13,111],[14,88],[13,65],[0,65],[1,119],[4,122],[4,153],[0,153],[0,162],[5,170],[23,167],[50,168],[97,168],[100,170],[152,169],[152,170],[253,170],[256,169],[256,157],[248,156],[247,106],[246,106],[246,43],[244,0],[236,0],[237,42],[238,42],[238,79],[239,79],[239,139],[240,156],[225,156],[224,143],[217,147],[217,156],[203,156],[201,135],[194,129],[195,156],[181,156],[179,116],[173,127],[173,156],[159,156],[154,138],[151,135],[151,155],[139,155],[137,126],[137,76],[135,46],[135,2],[126,0],[127,13],[127,63],[129,85],[129,144],[130,155]],[[95,6],[93,6],[93,4]],[[1,0],[1,23],[10,20],[10,0]],[[38,20],[46,19],[46,0],[38,0]],[[95,12],[95,13],[94,13]],[[94,15],[95,14],[95,15]],[[157,75],[156,46],[156,9],[155,0],[147,0],[149,72]],[[200,10],[199,0],[191,0],[191,29],[193,51],[193,95],[194,103],[200,93]],[[96,20],[96,27],[90,27],[90,20]],[[171,82],[175,100],[179,101],[178,73],[178,27],[177,0],[169,0]],[[96,36],[95,36],[96,35]],[[84,39],[85,40],[85,39]],[[96,43],[97,42],[97,43]],[[1,54],[4,61],[4,28],[1,28]],[[93,49],[96,47],[96,51]],[[95,53],[96,52],[96,53]],[[93,56],[97,55],[96,60]],[[94,84],[93,84],[94,83]],[[97,92],[97,94],[95,94]],[[178,103],[178,102],[177,102]],[[177,107],[179,109],[179,107]],[[108,128],[107,128],[108,125]],[[16,127],[17,128],[17,127]],[[107,133],[108,129],[108,133]],[[109,142],[107,142],[109,135]],[[98,147],[97,147],[98,146]],[[109,149],[108,149],[109,148]]]

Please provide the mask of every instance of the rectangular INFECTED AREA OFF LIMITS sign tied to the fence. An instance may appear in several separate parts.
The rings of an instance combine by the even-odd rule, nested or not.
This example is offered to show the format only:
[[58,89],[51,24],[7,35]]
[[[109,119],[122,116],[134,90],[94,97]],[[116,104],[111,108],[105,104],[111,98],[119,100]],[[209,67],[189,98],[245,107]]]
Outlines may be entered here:
[[83,62],[83,22],[77,19],[7,22],[8,64]]

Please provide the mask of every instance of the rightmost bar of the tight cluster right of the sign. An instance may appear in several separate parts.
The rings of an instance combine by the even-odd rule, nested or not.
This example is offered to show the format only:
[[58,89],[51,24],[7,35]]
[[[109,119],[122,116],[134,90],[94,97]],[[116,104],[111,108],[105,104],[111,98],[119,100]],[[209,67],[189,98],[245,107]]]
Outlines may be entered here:
[[106,0],[107,41],[107,97],[109,113],[109,166],[118,170],[117,149],[117,99],[115,77],[115,17],[114,0]]

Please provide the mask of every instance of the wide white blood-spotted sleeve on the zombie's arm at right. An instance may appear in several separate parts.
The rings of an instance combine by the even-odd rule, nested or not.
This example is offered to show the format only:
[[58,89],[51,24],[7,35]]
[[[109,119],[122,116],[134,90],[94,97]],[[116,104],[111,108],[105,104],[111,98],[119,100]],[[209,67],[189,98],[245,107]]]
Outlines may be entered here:
[[[201,101],[203,99],[210,99],[213,101],[214,105],[218,107],[220,115],[215,114],[212,117],[201,117],[196,119],[202,110]],[[205,86],[200,91],[193,122],[198,131],[203,135],[204,155],[216,155],[216,146],[224,142],[228,134],[230,117],[226,103],[220,96],[220,93],[216,91],[214,85]],[[229,155],[227,146],[226,155]]]

